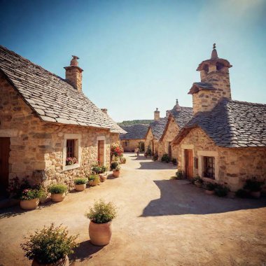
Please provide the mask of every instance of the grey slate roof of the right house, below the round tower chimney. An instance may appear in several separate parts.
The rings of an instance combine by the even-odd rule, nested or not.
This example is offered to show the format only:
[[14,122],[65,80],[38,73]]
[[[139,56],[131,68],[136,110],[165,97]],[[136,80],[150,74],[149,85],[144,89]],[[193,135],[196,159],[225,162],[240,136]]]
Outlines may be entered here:
[[193,127],[202,128],[217,146],[266,146],[266,104],[222,99],[212,111],[197,113],[173,144],[179,144]]

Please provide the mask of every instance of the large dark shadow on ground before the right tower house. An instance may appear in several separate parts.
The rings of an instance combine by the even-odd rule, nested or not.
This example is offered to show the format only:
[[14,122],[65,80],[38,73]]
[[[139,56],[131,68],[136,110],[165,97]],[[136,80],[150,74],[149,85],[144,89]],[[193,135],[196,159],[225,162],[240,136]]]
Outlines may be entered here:
[[207,195],[204,189],[197,188],[185,180],[154,181],[160,188],[161,197],[152,200],[145,207],[142,217],[181,214],[219,214],[241,209],[266,207],[266,198],[230,199]]

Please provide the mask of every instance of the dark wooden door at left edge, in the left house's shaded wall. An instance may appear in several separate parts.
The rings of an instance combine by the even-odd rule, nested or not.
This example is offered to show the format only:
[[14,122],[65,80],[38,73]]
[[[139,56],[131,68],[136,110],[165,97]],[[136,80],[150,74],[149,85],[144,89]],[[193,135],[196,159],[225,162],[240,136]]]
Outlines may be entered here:
[[10,138],[0,138],[0,194],[6,194],[9,174]]

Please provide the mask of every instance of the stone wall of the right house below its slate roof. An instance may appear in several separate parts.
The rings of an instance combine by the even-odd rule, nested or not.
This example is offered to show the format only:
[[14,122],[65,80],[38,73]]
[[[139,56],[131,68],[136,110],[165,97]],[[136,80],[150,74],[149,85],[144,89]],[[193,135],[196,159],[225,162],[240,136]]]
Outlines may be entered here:
[[[193,166],[194,175],[203,176],[203,156],[215,158],[217,183],[223,183],[232,191],[242,188],[246,179],[256,176],[266,181],[266,148],[222,148],[214,144],[199,128],[191,130],[176,146],[179,169],[185,171],[184,150],[193,150],[193,158],[198,160],[198,168]],[[209,179],[204,179],[209,181]]]

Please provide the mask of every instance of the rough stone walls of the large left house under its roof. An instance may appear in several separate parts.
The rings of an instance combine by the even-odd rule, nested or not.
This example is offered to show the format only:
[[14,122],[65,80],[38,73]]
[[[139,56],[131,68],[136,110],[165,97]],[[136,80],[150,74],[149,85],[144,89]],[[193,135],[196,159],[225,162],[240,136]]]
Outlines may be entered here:
[[[10,137],[9,179],[31,177],[35,170],[45,172],[45,186],[68,183],[97,162],[97,137],[105,137],[106,165],[110,144],[119,141],[109,130],[59,123],[45,123],[25,104],[20,94],[0,76],[0,137]],[[80,134],[80,167],[63,171],[64,134]]]

